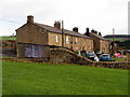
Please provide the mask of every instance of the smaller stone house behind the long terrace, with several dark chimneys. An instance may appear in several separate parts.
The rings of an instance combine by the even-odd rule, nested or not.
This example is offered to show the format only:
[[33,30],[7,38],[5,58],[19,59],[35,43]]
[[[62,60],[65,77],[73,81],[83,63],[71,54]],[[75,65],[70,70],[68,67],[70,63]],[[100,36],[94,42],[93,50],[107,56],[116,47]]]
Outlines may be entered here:
[[90,32],[89,28],[87,28],[84,34],[93,40],[93,51],[95,53],[98,52],[109,53],[109,41],[103,38],[101,32],[98,32],[93,29]]

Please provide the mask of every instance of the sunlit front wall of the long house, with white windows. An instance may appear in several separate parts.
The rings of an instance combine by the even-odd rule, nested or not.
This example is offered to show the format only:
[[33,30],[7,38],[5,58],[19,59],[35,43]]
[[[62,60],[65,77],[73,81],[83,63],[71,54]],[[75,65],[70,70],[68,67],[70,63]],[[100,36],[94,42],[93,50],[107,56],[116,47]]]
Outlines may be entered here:
[[[66,38],[68,38],[68,42]],[[62,34],[49,32],[49,45],[62,46]],[[84,48],[87,52],[93,52],[93,40],[64,34],[64,47],[73,48],[74,51],[82,51]]]

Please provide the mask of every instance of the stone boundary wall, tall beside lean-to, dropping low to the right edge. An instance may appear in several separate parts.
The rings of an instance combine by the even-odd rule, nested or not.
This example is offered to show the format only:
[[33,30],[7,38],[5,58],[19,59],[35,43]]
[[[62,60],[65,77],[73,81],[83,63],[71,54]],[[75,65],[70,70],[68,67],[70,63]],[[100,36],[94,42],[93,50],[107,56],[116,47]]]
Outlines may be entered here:
[[52,48],[50,61],[53,64],[78,64],[93,67],[130,69],[130,61],[92,61],[65,48]]

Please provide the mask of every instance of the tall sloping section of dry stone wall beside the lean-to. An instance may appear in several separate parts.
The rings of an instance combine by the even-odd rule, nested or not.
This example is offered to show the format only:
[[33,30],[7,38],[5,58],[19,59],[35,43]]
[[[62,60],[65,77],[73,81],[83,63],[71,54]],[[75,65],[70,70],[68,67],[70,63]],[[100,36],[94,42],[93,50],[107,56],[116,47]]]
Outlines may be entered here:
[[92,60],[87,59],[82,56],[79,56],[69,50],[65,48],[52,48],[50,54],[50,61],[54,64],[80,64],[88,65],[91,64]]

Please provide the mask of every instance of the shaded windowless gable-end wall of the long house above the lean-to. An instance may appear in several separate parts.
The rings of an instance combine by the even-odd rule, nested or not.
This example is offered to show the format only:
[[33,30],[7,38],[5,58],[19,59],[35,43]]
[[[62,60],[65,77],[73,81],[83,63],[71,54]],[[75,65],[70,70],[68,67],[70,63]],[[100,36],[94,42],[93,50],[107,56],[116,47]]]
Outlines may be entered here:
[[35,24],[25,24],[16,30],[17,43],[48,45],[48,31]]

